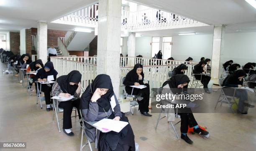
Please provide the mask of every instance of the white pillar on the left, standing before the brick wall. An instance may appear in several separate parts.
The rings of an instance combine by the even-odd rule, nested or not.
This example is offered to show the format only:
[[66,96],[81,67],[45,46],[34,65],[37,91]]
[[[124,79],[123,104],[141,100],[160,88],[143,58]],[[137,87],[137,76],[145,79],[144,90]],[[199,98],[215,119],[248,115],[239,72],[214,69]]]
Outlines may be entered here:
[[47,22],[37,23],[37,58],[47,62]]

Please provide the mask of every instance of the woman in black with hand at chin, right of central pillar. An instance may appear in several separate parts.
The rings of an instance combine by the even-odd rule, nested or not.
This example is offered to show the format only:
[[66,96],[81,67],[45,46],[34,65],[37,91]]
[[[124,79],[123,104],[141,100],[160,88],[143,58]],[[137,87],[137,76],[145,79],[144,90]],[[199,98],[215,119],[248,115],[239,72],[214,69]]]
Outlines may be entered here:
[[[125,91],[128,94],[131,94],[131,91],[133,89],[133,94],[138,95],[138,104],[139,108],[138,110],[141,111],[141,114],[144,116],[152,116],[148,113],[148,105],[149,105],[149,85],[147,83],[143,83],[144,80],[144,73],[143,73],[143,66],[140,63],[137,63],[134,65],[133,70],[129,71],[126,75],[125,81],[123,81],[123,84],[125,86]],[[139,89],[139,88],[132,88],[130,86],[139,86],[139,85],[145,85],[146,88]]]

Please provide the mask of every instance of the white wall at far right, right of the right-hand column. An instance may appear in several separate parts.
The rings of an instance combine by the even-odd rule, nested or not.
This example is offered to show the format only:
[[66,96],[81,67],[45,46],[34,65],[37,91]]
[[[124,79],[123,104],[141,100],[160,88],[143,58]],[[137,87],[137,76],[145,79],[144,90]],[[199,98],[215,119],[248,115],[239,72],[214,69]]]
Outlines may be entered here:
[[241,66],[256,62],[256,33],[229,33],[224,35],[220,63],[233,60]]

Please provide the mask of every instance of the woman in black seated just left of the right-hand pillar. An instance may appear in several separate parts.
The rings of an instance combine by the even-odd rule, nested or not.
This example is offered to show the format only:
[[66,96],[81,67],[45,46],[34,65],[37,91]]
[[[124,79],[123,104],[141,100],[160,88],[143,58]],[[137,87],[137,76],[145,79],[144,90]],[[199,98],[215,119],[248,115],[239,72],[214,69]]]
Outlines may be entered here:
[[[207,63],[205,60],[200,61],[197,65],[194,66],[193,73],[194,74],[205,74],[204,66],[206,64]],[[197,80],[201,80],[201,83],[204,85],[205,93],[210,93],[207,85],[210,82],[211,77],[207,76],[207,75],[195,75],[195,78]]]

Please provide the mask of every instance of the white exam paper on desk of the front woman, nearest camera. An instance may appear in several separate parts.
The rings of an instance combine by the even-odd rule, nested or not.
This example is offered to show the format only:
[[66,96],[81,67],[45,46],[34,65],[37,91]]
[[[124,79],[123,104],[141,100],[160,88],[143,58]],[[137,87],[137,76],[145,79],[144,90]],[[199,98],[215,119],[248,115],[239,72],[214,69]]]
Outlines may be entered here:
[[115,121],[112,119],[104,118],[93,124],[93,126],[96,126],[96,128],[103,129],[105,131],[111,130],[119,133],[127,124],[128,122]]

